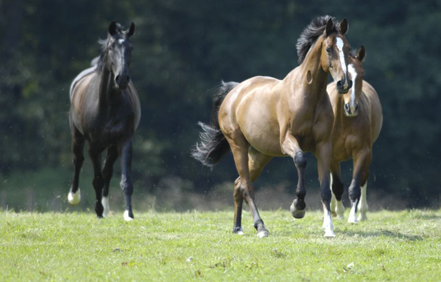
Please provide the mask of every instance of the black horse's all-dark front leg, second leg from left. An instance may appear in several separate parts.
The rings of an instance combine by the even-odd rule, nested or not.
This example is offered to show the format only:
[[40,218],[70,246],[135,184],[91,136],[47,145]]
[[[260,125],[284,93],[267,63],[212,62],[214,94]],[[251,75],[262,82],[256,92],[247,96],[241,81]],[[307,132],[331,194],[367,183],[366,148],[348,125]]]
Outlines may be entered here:
[[96,216],[101,218],[103,217],[103,204],[101,203],[101,198],[103,197],[103,186],[104,186],[104,177],[103,172],[101,171],[101,152],[103,149],[100,147],[96,147],[92,144],[89,144],[89,155],[90,160],[92,160],[92,165],[94,166],[94,180],[92,180],[92,184],[95,189],[95,212]]

